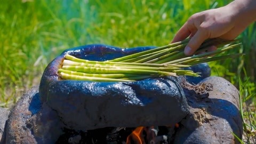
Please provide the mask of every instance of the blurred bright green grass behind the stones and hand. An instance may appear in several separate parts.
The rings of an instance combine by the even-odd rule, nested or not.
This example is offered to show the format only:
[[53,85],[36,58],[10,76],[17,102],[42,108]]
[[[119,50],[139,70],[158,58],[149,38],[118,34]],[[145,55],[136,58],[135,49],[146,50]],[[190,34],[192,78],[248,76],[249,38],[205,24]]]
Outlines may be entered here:
[[[1,1],[0,107],[10,108],[22,93],[38,85],[47,63],[63,50],[92,43],[166,45],[190,15],[229,2]],[[255,29],[253,23],[239,36],[244,46],[237,52],[245,57],[210,63],[212,75],[225,77],[241,91],[247,143],[255,142]]]

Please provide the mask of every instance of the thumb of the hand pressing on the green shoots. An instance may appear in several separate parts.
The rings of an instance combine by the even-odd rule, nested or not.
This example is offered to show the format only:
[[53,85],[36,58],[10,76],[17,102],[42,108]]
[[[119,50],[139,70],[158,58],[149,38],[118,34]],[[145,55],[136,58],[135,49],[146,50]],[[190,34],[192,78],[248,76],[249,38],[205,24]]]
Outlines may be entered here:
[[187,46],[185,47],[184,53],[185,55],[192,55],[199,46],[207,39],[206,34],[203,30],[197,30],[196,34],[191,37]]

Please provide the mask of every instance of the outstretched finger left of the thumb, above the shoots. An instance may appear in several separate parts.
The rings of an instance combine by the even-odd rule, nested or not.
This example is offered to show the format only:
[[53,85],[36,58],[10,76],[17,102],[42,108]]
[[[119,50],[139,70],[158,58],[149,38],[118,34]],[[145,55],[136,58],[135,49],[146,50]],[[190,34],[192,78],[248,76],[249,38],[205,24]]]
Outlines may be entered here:
[[191,31],[189,30],[188,23],[186,22],[174,36],[171,43],[182,41],[186,39],[190,34]]

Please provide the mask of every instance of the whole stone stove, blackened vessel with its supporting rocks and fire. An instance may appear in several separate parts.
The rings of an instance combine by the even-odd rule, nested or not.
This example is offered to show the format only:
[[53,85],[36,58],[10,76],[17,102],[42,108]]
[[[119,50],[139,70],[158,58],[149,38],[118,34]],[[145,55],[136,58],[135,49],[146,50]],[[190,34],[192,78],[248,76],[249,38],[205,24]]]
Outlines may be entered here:
[[47,66],[41,85],[5,116],[0,143],[238,143],[233,135],[243,133],[238,90],[210,77],[205,63],[191,67],[202,73],[199,78],[134,83],[60,82],[55,72],[67,52],[105,60],[151,48],[87,45],[65,51]]

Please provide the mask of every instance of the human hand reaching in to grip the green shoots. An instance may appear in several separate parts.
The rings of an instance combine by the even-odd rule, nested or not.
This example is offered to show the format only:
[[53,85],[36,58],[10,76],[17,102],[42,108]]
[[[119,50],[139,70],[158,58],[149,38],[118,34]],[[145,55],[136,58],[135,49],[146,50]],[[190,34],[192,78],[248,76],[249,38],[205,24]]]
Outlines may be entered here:
[[[191,39],[185,47],[184,53],[192,55],[207,38],[220,37],[228,40],[236,38],[255,20],[255,16],[253,18],[250,15],[245,16],[248,12],[252,12],[249,6],[253,3],[255,7],[255,2],[247,0],[236,1],[236,3],[234,1],[218,9],[193,14],[180,28],[171,43],[190,37]],[[240,2],[243,1],[246,1],[249,5],[246,6],[246,3],[241,4]],[[255,12],[255,8],[253,12]],[[251,13],[251,15],[253,14]],[[210,46],[208,51],[216,49],[216,46]]]

